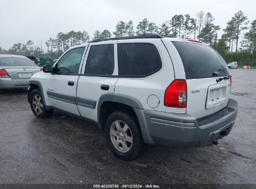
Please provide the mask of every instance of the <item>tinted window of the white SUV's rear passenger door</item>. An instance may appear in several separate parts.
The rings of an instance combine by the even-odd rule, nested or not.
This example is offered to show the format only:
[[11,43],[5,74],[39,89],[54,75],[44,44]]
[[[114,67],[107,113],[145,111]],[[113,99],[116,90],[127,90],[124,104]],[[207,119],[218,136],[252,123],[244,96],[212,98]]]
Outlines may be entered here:
[[90,48],[85,74],[112,75],[115,67],[114,45],[94,45]]

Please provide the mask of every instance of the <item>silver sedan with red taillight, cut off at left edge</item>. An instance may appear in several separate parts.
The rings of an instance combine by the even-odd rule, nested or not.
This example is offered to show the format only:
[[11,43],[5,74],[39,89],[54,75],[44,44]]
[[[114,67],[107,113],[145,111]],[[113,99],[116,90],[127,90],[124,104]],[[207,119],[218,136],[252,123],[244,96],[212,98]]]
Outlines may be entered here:
[[0,55],[0,89],[24,88],[41,68],[29,58],[19,55]]

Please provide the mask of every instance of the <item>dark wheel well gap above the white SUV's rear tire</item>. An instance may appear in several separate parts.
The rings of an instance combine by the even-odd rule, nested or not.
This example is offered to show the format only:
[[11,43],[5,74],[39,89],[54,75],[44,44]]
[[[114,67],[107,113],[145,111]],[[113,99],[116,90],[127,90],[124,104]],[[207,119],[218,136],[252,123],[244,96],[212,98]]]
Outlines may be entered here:
[[106,101],[102,103],[102,106],[100,107],[100,129],[105,129],[105,122],[107,121],[108,116],[115,111],[123,111],[129,114],[139,126],[137,115],[131,106],[122,103]]

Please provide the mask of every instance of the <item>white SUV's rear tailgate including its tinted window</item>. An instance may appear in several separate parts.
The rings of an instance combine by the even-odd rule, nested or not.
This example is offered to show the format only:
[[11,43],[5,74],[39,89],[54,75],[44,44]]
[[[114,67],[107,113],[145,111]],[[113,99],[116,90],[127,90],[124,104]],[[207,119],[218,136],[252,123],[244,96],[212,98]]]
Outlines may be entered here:
[[173,44],[186,75],[186,113],[201,118],[227,106],[230,81],[223,58],[207,45],[178,41]]

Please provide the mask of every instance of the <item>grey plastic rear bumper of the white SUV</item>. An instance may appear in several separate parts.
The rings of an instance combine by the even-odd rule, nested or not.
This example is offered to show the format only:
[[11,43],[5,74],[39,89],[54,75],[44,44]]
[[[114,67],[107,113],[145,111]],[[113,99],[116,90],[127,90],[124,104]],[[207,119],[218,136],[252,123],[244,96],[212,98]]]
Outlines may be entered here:
[[201,119],[196,119],[189,114],[141,109],[135,109],[135,112],[139,117],[143,139],[147,144],[202,147],[212,145],[214,141],[227,136],[231,131],[237,116],[237,101],[229,99],[226,108],[230,110],[227,114],[223,114],[220,110],[222,112],[219,111],[220,113]]

